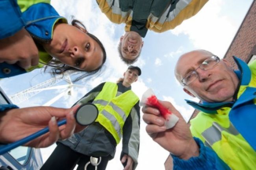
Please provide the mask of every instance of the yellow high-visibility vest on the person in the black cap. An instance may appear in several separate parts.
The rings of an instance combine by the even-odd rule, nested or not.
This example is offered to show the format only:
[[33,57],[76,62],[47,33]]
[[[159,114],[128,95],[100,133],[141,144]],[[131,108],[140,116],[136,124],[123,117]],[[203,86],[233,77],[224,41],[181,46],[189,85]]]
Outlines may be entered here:
[[99,111],[96,122],[104,126],[118,144],[122,138],[124,122],[139,98],[131,90],[119,95],[117,88],[116,83],[106,82],[93,103]]

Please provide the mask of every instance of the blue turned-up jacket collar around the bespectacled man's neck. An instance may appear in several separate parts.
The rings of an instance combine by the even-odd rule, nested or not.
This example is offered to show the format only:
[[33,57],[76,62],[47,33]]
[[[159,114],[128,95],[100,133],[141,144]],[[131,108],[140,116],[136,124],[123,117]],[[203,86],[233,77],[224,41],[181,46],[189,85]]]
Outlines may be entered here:
[[[233,56],[233,58],[236,61],[237,67],[239,68],[239,70],[234,70],[237,77],[239,78],[239,84],[234,94],[234,99],[236,100],[240,85],[248,85],[250,83],[251,72],[247,63],[245,63],[243,60],[235,56]],[[185,101],[187,102],[187,104],[191,105],[195,109],[200,110],[204,113],[210,113],[210,114],[216,114],[217,110],[221,109],[222,107],[232,107],[235,103],[235,101],[221,102],[221,103],[208,103],[205,101],[202,101],[202,103],[197,103],[191,100],[185,100]]]

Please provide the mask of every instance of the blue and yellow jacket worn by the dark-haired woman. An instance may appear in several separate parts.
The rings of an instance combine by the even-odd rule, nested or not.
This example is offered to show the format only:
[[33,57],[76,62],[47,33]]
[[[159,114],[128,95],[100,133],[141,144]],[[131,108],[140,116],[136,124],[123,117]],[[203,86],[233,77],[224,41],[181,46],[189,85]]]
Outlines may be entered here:
[[[20,29],[25,28],[30,35],[32,35],[35,41],[50,42],[52,39],[54,24],[56,22],[67,23],[67,20],[59,16],[54,7],[48,4],[49,2],[50,0],[19,0],[18,6],[15,0],[1,1],[0,9],[3,11],[0,12],[0,18],[1,20],[4,20],[4,23],[7,22],[9,30],[5,29],[6,31],[1,33],[0,39],[9,37]],[[3,18],[4,15],[8,15],[9,17]],[[16,24],[14,24],[13,21],[15,21]],[[0,27],[0,29],[2,28]],[[47,64],[51,59],[52,57],[47,54],[45,50],[39,50],[39,61],[41,63]],[[16,64],[10,65],[5,62],[0,63],[0,78],[16,76],[30,72],[35,68],[42,68],[45,65],[41,63],[26,70],[20,68]]]

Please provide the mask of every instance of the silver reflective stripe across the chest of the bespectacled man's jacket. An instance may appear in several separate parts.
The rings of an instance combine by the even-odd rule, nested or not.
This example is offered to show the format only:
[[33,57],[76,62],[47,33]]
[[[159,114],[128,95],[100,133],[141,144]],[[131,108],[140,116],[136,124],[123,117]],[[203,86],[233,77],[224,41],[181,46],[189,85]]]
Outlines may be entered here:
[[226,131],[232,135],[239,134],[232,124],[230,124],[228,128],[225,128],[219,125],[217,122],[213,122],[212,126],[202,133],[202,136],[208,144],[213,145],[215,142],[221,140],[221,131]]

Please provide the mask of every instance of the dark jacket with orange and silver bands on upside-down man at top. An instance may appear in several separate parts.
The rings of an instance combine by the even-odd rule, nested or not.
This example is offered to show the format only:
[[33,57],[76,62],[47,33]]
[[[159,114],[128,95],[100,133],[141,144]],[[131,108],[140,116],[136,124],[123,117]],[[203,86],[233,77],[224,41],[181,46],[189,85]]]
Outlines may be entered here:
[[147,30],[174,29],[198,13],[208,0],[97,0],[101,11],[116,24],[125,23],[125,31],[145,37]]

